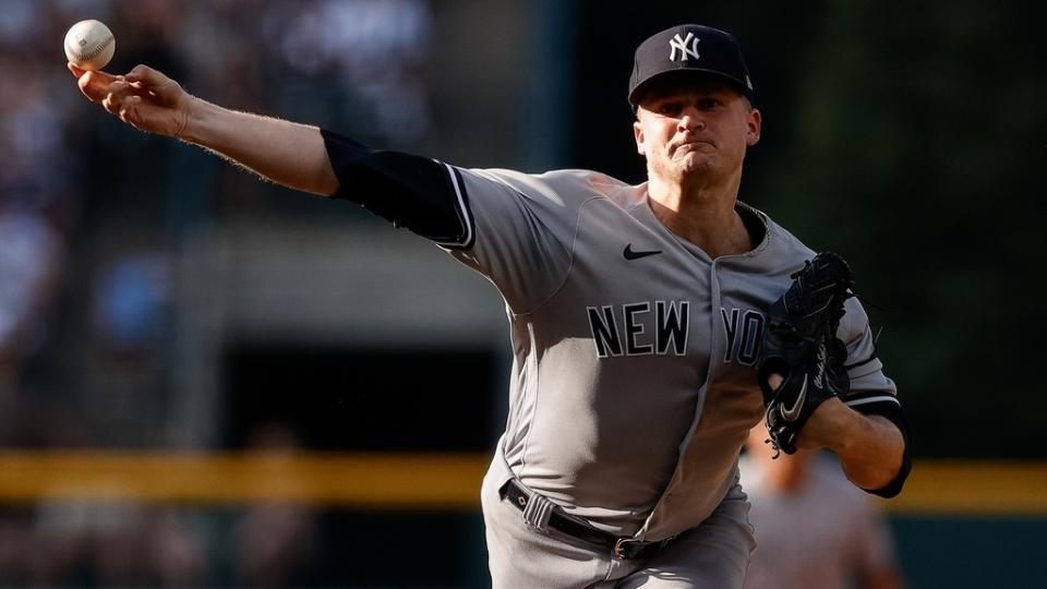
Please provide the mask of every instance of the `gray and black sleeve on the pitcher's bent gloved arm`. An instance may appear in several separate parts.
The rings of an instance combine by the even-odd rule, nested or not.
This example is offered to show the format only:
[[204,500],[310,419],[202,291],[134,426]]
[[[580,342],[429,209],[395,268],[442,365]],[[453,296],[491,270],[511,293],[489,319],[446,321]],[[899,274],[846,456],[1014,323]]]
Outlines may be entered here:
[[883,363],[876,356],[876,338],[869,327],[869,316],[856,298],[847,299],[845,314],[837,332],[847,347],[845,368],[851,377],[851,389],[841,400],[847,407],[867,416],[881,416],[893,423],[902,433],[905,449],[902,455],[902,468],[889,484],[881,489],[866,489],[867,492],[883,497],[893,497],[902,491],[902,485],[912,470],[911,433],[908,421],[898,400],[894,382],[883,374]]

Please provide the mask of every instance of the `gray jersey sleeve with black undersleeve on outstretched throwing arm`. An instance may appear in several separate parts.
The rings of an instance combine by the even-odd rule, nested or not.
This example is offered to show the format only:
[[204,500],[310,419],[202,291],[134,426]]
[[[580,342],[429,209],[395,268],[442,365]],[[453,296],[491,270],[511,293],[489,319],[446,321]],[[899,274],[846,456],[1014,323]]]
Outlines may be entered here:
[[321,134],[338,178],[332,197],[434,241],[490,278],[515,313],[541,304],[563,284],[585,191],[564,199],[551,182],[569,187],[580,177],[469,170],[371,149],[325,129]]

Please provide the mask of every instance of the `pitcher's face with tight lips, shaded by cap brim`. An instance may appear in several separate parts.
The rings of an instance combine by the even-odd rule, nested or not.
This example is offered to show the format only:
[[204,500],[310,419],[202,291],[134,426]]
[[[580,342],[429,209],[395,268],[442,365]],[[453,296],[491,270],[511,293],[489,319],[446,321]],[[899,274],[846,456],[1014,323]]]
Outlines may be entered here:
[[715,180],[741,173],[745,149],[760,139],[760,111],[730,84],[698,79],[649,92],[633,127],[649,173]]

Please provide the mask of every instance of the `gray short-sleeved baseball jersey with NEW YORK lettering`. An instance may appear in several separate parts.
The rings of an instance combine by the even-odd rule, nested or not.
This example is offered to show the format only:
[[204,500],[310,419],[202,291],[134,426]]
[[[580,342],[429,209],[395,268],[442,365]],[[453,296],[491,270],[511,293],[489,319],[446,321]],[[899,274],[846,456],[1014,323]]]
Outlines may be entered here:
[[[641,540],[737,496],[738,450],[762,414],[763,313],[814,252],[744,204],[762,240],[712,260],[658,221],[646,184],[446,170],[466,230],[442,245],[494,283],[512,324],[509,416],[489,476]],[[838,335],[845,402],[896,406],[855,299]]]

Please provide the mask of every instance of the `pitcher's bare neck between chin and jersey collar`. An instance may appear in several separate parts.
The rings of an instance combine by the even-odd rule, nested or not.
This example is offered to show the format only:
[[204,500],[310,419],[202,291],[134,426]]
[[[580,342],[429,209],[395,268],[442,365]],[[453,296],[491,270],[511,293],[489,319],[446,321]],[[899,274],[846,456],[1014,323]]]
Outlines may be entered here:
[[669,230],[701,248],[710,257],[753,249],[753,240],[734,209],[738,178],[727,184],[681,184],[651,176],[651,211]]

